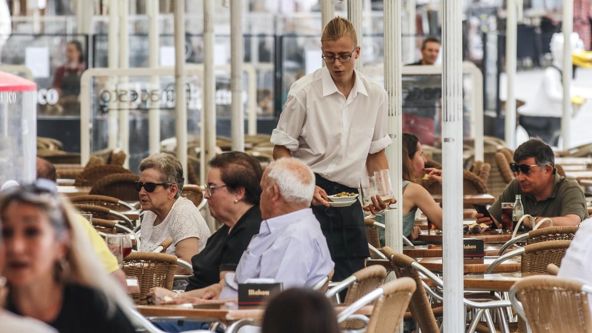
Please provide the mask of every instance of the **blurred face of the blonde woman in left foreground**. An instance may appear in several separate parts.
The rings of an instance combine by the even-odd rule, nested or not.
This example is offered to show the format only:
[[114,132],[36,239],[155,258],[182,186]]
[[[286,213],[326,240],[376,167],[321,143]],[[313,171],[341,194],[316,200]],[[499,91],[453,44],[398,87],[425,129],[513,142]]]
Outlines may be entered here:
[[2,212],[4,276],[12,286],[54,278],[54,263],[66,255],[47,214],[27,203],[8,204]]

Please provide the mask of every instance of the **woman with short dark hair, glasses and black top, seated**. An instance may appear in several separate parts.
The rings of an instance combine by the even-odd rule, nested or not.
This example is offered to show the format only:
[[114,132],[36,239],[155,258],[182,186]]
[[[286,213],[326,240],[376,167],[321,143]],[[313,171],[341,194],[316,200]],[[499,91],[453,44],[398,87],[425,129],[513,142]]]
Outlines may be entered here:
[[165,297],[210,299],[220,293],[224,276],[236,271],[251,238],[259,233],[262,174],[259,162],[243,152],[221,153],[210,161],[204,197],[208,200],[211,216],[223,226],[191,259],[193,276],[189,278],[185,292],[153,288],[147,294],[152,303],[162,303]]

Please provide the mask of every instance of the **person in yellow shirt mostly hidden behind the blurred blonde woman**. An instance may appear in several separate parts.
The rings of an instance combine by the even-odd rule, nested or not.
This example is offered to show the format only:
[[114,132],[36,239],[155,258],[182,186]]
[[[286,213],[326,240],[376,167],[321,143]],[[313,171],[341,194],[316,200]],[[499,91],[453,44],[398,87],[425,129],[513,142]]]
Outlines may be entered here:
[[[43,158],[37,158],[37,179],[43,178],[53,182],[57,181],[57,173],[56,167],[53,166],[49,161]],[[92,248],[94,249],[96,255],[98,255],[99,260],[102,262],[105,270],[107,273],[110,273],[115,280],[117,280],[121,286],[127,288],[126,283],[126,273],[123,273],[123,270],[119,268],[119,264],[117,262],[117,258],[111,254],[107,244],[101,238],[98,232],[94,228],[92,228],[91,224],[82,217],[78,216],[79,219],[77,220],[82,226],[83,230],[85,230],[86,235],[88,235],[88,239],[91,242]]]

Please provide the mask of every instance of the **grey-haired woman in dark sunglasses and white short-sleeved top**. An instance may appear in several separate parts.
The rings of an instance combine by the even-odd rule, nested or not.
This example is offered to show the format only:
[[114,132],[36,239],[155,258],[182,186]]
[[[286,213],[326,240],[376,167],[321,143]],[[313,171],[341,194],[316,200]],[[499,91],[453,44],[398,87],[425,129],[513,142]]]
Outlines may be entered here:
[[[152,251],[166,238],[173,243],[167,254],[187,262],[205,247],[210,229],[191,200],[180,197],[183,167],[175,156],[155,153],[140,162],[140,205],[144,214],[140,226],[140,251]],[[179,268],[180,270],[180,268]]]

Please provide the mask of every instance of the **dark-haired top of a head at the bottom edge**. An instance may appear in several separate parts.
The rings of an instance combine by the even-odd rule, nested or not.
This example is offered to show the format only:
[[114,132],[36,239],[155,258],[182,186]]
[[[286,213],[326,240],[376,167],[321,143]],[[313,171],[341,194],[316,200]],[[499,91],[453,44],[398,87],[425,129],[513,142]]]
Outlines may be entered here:
[[333,305],[324,294],[292,288],[272,298],[261,324],[261,333],[339,333]]

